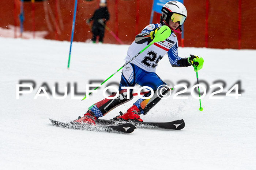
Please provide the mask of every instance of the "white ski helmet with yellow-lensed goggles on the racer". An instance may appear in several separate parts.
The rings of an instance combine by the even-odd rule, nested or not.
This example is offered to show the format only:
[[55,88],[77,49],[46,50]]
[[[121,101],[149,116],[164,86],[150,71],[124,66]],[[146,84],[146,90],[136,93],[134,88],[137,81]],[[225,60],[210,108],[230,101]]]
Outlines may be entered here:
[[[169,1],[162,7],[162,21],[163,24],[169,25],[169,20],[171,19],[174,23],[179,21],[180,26],[185,22],[187,18],[186,7],[178,1]],[[178,29],[177,28],[177,29]]]

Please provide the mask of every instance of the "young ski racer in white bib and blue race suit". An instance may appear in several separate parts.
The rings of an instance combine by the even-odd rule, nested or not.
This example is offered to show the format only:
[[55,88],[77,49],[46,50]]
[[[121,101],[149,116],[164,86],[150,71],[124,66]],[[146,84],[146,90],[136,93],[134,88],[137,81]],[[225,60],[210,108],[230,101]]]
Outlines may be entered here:
[[[161,11],[162,16],[160,24],[147,25],[147,27],[135,37],[135,41],[133,41],[128,48],[125,60],[129,61],[139,51],[145,48],[154,39],[155,33],[158,31],[159,27],[167,25],[172,30],[171,35],[164,41],[156,42],[148,47],[123,68],[119,86],[119,95],[117,98],[105,98],[98,103],[95,103],[82,118],[79,116],[79,119],[74,120],[74,122],[95,125],[96,119],[104,116],[113,108],[128,102],[133,98],[131,94],[132,90],[130,90],[128,99],[127,89],[122,89],[121,87],[133,87],[136,83],[140,86],[151,87],[154,90],[153,97],[150,99],[138,99],[133,103],[132,107],[128,108],[127,112],[118,115],[116,119],[143,122],[140,118],[140,114],[147,114],[147,112],[161,100],[160,97],[167,94],[169,91],[169,88],[165,86],[166,83],[155,73],[158,62],[163,56],[166,53],[168,54],[170,64],[173,67],[188,67],[192,64],[197,67],[199,65],[198,62],[193,61],[193,59],[198,58],[197,56],[190,55],[188,58],[180,58],[178,56],[178,41],[173,32],[181,33],[181,25],[187,17],[185,6],[178,1],[169,1],[162,7]],[[158,88],[159,86],[161,87]],[[160,93],[161,91],[162,94]],[[115,95],[116,93],[110,95],[110,97]],[[144,97],[150,95],[151,92],[148,92]]]

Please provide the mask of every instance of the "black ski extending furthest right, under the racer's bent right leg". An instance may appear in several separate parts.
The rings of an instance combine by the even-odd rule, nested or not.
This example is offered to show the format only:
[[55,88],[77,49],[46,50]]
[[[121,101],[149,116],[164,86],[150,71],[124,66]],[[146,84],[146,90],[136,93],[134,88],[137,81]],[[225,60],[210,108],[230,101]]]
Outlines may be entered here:
[[[96,123],[101,124],[120,124],[127,121],[118,121],[118,120],[105,120],[105,119],[97,119]],[[140,128],[163,128],[163,129],[173,129],[173,130],[181,130],[185,127],[185,122],[183,119],[181,120],[174,120],[172,122],[132,122],[129,123],[133,124],[136,127]]]

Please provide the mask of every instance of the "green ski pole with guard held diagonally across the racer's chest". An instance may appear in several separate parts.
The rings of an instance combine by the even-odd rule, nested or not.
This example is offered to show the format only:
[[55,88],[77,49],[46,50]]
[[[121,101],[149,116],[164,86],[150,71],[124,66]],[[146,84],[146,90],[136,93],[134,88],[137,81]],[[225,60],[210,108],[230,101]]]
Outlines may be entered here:
[[[171,30],[169,27],[167,27],[166,25],[163,25],[162,27],[160,27],[160,29],[155,33],[155,38],[151,41],[151,43],[149,43],[145,48],[142,49],[142,51],[138,52],[138,54],[136,54],[133,58],[131,58],[127,63],[125,63],[122,67],[120,67],[116,72],[114,72],[114,74],[112,74],[111,76],[109,76],[109,78],[107,78],[104,82],[101,83],[101,85],[103,83],[105,83],[108,79],[110,79],[113,75],[115,75],[118,71],[120,71],[124,66],[126,66],[129,62],[131,62],[133,59],[135,59],[139,54],[141,54],[144,50],[146,50],[149,46],[151,46],[152,44],[154,44],[155,42],[158,41],[163,41],[165,40],[167,37],[169,37],[171,35]],[[98,87],[96,87],[94,90],[96,90]],[[91,92],[88,94],[90,95]],[[82,100],[84,100],[86,98],[86,95],[84,96],[84,98]]]

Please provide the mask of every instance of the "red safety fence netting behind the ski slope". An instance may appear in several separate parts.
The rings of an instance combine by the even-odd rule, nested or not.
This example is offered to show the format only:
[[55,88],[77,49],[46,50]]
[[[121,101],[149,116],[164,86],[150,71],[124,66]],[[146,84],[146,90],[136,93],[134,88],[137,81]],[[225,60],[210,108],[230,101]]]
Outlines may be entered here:
[[[93,15],[98,3],[99,0],[78,0],[74,41],[84,42],[92,37],[86,19]],[[107,26],[125,44],[132,43],[135,35],[149,24],[153,0],[107,0],[107,3],[110,13]],[[47,31],[46,39],[69,41],[74,4],[75,0],[25,1],[24,31]],[[184,5],[188,11],[185,47],[256,49],[255,1],[184,0]],[[19,28],[20,0],[1,1],[0,11],[1,30],[10,29],[10,25]],[[159,17],[154,13],[153,23],[159,23]],[[0,32],[0,36],[7,36],[3,34]],[[20,33],[14,31],[13,36],[19,37]],[[104,43],[118,44],[108,31]]]

